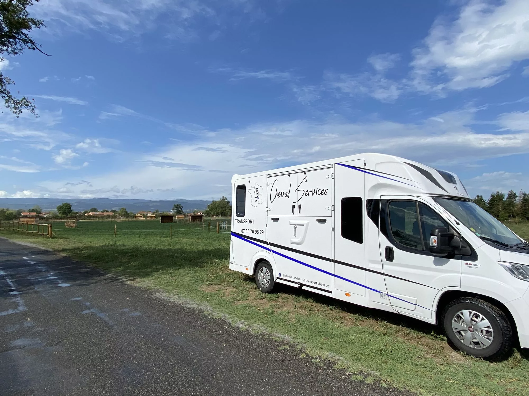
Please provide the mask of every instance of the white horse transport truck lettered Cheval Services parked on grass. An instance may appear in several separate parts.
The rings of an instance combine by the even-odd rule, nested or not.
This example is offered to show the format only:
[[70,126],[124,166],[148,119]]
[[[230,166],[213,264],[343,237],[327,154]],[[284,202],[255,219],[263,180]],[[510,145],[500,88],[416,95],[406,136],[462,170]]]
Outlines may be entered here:
[[232,177],[230,269],[440,324],[470,355],[529,348],[529,243],[453,173],[358,154]]

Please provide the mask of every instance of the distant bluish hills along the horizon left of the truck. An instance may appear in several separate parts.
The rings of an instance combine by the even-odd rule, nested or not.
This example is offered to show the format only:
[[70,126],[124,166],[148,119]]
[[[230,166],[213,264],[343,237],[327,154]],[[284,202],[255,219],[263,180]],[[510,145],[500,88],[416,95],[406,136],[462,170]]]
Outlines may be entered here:
[[92,198],[92,199],[66,199],[66,198],[0,198],[0,208],[9,209],[31,209],[35,205],[39,205],[42,211],[48,212],[56,210],[57,206],[63,202],[71,203],[71,207],[76,212],[83,212],[90,208],[97,208],[98,210],[120,210],[126,208],[129,212],[139,211],[155,211],[166,212],[172,209],[175,203],[179,203],[184,207],[184,212],[194,210],[204,210],[211,201],[202,200],[163,200],[163,201],[149,201],[149,200],[125,200],[112,198]]

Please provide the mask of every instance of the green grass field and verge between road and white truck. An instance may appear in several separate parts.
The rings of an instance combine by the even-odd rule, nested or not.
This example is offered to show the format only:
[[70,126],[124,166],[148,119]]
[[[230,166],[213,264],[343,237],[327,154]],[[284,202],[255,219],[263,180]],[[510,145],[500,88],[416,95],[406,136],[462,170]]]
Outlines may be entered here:
[[[503,362],[486,362],[453,351],[437,328],[397,314],[341,303],[277,285],[262,294],[252,278],[228,268],[230,234],[175,225],[166,233],[154,221],[79,222],[57,239],[4,233],[66,253],[135,284],[207,303],[233,320],[292,337],[315,356],[335,355],[353,372],[431,395],[529,394],[529,357],[515,350]],[[187,223],[189,225],[189,223]],[[508,224],[524,238],[528,222]],[[62,225],[63,227],[63,225]],[[83,229],[107,229],[89,232]],[[175,230],[178,229],[179,231]],[[188,227],[190,228],[190,227]],[[263,342],[266,342],[263,340]],[[300,352],[302,353],[302,352]]]

